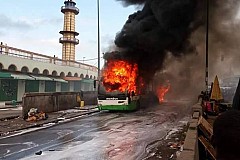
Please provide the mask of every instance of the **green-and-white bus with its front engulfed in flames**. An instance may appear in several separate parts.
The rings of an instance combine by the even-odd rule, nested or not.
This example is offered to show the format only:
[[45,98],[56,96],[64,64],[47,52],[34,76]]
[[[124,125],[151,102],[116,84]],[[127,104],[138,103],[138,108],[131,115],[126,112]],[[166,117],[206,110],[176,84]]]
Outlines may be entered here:
[[140,106],[138,78],[136,63],[106,61],[98,86],[99,110],[137,110]]

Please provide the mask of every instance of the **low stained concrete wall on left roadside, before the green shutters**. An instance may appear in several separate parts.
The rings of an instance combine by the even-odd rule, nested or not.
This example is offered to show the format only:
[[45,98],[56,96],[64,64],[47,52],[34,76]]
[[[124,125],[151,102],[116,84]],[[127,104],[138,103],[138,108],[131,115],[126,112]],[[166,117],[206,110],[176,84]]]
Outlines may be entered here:
[[26,118],[31,108],[51,113],[80,107],[80,103],[77,102],[78,95],[81,96],[81,100],[84,101],[85,105],[97,104],[97,92],[94,91],[25,93],[22,101],[22,116]]

